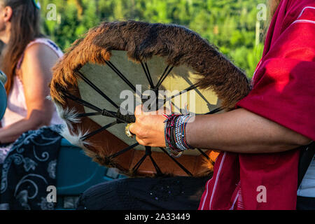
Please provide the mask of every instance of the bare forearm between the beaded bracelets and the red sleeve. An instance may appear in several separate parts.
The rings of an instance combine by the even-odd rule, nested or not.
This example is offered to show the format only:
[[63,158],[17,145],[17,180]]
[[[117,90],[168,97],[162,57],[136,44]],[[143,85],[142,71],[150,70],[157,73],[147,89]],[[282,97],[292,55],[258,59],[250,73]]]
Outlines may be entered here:
[[235,153],[279,153],[311,142],[245,109],[197,116],[188,123],[186,135],[190,146]]

